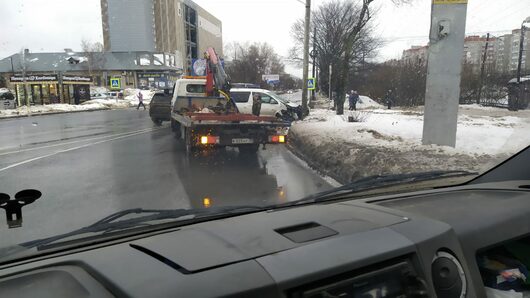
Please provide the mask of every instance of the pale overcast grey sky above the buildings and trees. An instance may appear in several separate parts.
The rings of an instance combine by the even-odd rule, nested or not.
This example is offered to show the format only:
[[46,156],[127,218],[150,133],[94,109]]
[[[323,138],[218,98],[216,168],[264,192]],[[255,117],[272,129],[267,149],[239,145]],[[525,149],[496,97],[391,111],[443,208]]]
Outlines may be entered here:
[[[314,7],[326,0],[313,0]],[[34,52],[80,49],[82,39],[101,41],[99,0],[0,0],[0,58],[27,47]],[[266,41],[285,56],[291,24],[304,15],[297,0],[195,0],[223,22],[224,42]],[[403,49],[427,43],[430,0],[394,6],[379,0],[377,32],[386,41],[379,59],[398,58]],[[468,33],[518,28],[530,15],[530,0],[469,0]],[[290,71],[291,72],[291,71]]]

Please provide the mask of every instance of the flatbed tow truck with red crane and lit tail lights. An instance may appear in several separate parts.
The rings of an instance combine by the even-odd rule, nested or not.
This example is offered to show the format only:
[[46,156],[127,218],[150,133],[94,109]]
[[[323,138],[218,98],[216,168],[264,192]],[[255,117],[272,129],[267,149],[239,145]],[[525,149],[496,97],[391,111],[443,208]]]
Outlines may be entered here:
[[287,142],[290,123],[270,116],[239,113],[230,98],[230,80],[213,48],[205,53],[206,77],[185,77],[175,84],[171,129],[186,152],[238,147],[255,153],[260,144]]

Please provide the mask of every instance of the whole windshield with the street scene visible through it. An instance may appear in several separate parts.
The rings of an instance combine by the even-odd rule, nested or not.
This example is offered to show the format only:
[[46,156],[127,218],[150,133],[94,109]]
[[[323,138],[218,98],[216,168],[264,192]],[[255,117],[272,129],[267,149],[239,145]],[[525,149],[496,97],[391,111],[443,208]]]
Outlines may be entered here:
[[529,1],[304,3],[3,1],[0,263],[457,185],[530,145]]

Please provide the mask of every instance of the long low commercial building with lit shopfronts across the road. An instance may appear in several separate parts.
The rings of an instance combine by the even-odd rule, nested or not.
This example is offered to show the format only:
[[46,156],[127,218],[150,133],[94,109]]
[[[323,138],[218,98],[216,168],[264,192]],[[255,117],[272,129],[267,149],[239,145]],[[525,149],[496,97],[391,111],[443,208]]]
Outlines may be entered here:
[[181,74],[175,56],[164,53],[25,50],[0,60],[0,76],[19,104],[78,104],[90,98],[90,86],[164,89]]

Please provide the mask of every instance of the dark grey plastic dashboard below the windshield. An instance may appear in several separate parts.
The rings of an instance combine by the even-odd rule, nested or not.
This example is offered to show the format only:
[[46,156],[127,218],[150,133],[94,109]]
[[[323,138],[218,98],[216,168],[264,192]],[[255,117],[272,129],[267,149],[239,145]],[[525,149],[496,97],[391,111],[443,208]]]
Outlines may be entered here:
[[[377,288],[375,279],[366,287],[356,281],[395,276],[391,269],[398,266],[423,280],[430,296],[483,297],[476,251],[530,231],[530,192],[515,189],[457,187],[189,225],[4,265],[0,296],[34,280],[35,293],[64,285],[63,292],[50,291],[55,297],[313,297],[322,289]],[[69,271],[58,271],[64,264]],[[450,275],[461,279],[444,279],[442,267],[458,268]]]

